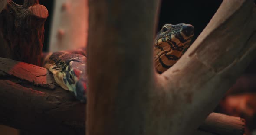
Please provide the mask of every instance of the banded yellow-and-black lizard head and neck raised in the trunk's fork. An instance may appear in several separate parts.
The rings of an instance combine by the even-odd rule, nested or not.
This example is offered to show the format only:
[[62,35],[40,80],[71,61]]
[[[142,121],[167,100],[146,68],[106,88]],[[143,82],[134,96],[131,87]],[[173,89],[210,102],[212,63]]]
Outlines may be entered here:
[[187,51],[194,35],[190,24],[165,24],[154,42],[154,63],[158,73],[163,73]]

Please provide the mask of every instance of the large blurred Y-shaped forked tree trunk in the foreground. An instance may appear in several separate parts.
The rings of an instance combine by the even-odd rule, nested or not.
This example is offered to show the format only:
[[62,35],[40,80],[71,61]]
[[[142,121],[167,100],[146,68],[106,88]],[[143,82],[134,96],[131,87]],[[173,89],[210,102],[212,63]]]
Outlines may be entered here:
[[156,5],[89,2],[88,135],[189,135],[255,57],[253,0],[224,0],[177,64],[154,73]]

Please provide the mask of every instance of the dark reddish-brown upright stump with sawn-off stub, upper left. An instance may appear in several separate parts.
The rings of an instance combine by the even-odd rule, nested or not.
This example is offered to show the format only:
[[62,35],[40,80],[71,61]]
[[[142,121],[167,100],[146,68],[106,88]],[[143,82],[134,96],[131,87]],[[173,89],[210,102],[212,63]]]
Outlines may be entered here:
[[41,64],[44,22],[48,10],[38,3],[39,0],[24,0],[20,6],[7,0],[7,6],[0,13],[0,34],[7,41],[0,49],[7,52],[5,58]]

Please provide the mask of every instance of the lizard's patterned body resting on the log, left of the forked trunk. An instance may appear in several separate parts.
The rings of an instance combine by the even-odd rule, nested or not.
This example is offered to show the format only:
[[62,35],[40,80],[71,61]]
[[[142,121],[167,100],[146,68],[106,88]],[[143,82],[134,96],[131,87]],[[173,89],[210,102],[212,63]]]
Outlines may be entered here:
[[43,66],[53,73],[56,83],[63,89],[75,94],[75,97],[86,102],[87,59],[85,50],[57,51],[43,57]]

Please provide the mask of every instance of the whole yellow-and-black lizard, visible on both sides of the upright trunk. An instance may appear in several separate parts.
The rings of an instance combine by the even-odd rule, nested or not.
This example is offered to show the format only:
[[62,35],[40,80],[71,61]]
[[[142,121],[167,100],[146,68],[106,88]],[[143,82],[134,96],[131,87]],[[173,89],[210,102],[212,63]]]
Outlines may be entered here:
[[[190,46],[194,27],[189,24],[166,24],[158,32],[154,45],[156,71],[162,73],[174,65]],[[86,102],[87,73],[86,48],[44,53],[43,67],[53,73],[54,79],[63,89]]]

